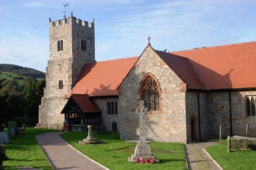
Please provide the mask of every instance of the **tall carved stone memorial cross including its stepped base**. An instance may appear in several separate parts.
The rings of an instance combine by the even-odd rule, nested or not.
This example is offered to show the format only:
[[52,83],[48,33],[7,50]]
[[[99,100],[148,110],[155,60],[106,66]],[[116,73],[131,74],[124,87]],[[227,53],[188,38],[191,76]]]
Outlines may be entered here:
[[139,101],[139,143],[135,147],[134,155],[128,157],[128,161],[134,162],[137,159],[153,159],[154,163],[159,163],[159,160],[152,155],[149,145],[146,142],[146,108],[144,101]]

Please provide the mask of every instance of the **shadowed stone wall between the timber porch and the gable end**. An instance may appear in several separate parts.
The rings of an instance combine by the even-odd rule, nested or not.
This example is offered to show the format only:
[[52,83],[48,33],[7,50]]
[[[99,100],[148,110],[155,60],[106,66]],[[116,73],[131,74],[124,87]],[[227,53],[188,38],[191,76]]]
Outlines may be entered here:
[[94,99],[94,102],[97,104],[97,106],[101,109],[101,120],[103,126],[106,127],[107,132],[112,131],[112,123],[117,122],[117,131],[119,132],[120,123],[118,119],[118,115],[120,114],[118,111],[118,114],[107,114],[107,101],[117,101],[118,98],[104,98],[104,99]]

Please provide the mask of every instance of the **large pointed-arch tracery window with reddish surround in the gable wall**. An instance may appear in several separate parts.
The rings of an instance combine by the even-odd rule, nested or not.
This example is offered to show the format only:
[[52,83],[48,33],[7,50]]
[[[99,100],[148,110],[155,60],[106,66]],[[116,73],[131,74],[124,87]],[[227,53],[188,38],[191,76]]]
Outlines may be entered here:
[[153,75],[148,74],[142,79],[140,97],[148,111],[159,110],[159,91],[159,83]]

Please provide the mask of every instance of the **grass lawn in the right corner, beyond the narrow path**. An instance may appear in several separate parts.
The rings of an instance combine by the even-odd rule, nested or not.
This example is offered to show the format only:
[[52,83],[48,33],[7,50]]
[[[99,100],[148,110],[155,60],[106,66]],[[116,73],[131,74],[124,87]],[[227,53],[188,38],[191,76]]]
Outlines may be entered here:
[[227,141],[206,147],[206,151],[223,169],[256,169],[256,151],[238,151],[231,149],[227,153]]

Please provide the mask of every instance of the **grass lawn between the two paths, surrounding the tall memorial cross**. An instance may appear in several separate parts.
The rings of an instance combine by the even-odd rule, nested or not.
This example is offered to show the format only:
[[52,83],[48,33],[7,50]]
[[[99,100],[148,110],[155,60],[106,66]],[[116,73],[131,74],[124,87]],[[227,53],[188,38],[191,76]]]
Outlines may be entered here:
[[[86,136],[86,133],[78,132],[68,132],[61,135],[74,148],[110,169],[187,169],[182,144],[165,142],[150,143],[151,151],[154,156],[157,156],[160,163],[135,164],[129,163],[127,159],[134,152],[136,144],[119,140],[118,133],[107,133],[103,135],[94,133],[94,136],[105,141],[105,144],[79,145],[78,140],[82,140]],[[161,153],[166,151],[177,152]]]

